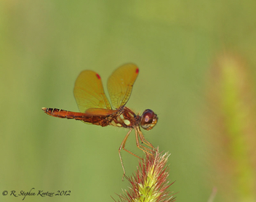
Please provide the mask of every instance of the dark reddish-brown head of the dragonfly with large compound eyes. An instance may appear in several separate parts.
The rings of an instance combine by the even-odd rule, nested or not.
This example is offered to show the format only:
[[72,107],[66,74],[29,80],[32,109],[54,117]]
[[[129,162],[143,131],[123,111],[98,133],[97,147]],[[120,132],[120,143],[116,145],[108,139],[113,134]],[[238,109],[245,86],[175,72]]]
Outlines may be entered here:
[[153,113],[153,110],[145,110],[140,116],[140,126],[145,130],[151,130],[156,125],[157,120],[158,117],[156,113]]

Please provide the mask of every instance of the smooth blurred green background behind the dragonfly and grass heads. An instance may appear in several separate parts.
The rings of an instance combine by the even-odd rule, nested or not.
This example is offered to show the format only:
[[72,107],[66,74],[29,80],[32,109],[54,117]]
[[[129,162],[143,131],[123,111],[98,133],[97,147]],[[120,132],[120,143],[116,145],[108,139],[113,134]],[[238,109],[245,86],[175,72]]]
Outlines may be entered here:
[[[118,155],[127,129],[52,118],[41,108],[78,111],[73,85],[81,70],[95,70],[106,86],[113,70],[134,62],[140,74],[127,107],[159,115],[143,134],[172,153],[169,190],[179,192],[177,201],[207,201],[217,187],[215,201],[223,201],[211,158],[216,115],[206,96],[215,84],[207,81],[223,51],[239,54],[255,78],[255,19],[255,1],[1,0],[0,193],[34,187],[71,195],[25,201],[117,199],[128,186]],[[143,156],[134,133],[127,148]],[[137,158],[122,157],[132,174]]]

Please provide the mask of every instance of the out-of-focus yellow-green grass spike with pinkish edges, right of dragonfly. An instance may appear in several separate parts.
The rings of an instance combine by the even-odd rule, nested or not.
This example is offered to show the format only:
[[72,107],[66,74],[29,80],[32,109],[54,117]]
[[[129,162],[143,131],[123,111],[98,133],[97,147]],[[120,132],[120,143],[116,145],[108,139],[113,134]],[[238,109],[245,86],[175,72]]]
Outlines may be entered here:
[[217,126],[221,134],[217,142],[225,147],[222,148],[225,154],[218,157],[221,163],[217,165],[228,168],[223,169],[221,175],[225,176],[225,171],[228,171],[230,179],[224,177],[221,180],[229,180],[223,184],[231,184],[231,190],[223,190],[223,193],[230,191],[227,195],[232,195],[234,201],[256,201],[256,100],[252,101],[249,70],[237,57],[228,54],[219,57],[214,68],[217,72],[214,92],[219,102],[217,116],[221,120]]

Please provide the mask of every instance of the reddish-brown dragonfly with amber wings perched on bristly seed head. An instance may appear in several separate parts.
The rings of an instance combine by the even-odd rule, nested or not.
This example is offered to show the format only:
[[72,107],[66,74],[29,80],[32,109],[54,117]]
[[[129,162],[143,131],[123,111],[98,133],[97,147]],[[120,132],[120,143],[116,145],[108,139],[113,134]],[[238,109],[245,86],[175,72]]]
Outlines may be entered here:
[[[125,106],[132,93],[132,87],[138,73],[139,68],[132,63],[122,65],[113,71],[107,83],[110,103],[105,95],[100,75],[93,70],[84,70],[76,78],[73,89],[73,94],[80,112],[58,108],[42,108],[44,113],[47,113],[49,116],[75,119],[83,121],[85,124],[103,127],[111,125],[129,129],[129,132],[119,147],[119,158],[124,171],[123,178],[125,176],[125,169],[121,158],[121,150],[123,149],[135,155],[125,148],[127,138],[132,132],[132,129],[135,129],[137,148],[151,155],[154,150],[153,145],[145,140],[140,126],[145,130],[153,129],[153,126],[158,121],[158,116],[150,109],[144,110],[142,116],[140,116]],[[143,143],[144,145],[142,145]],[[135,156],[140,158],[138,155]]]

